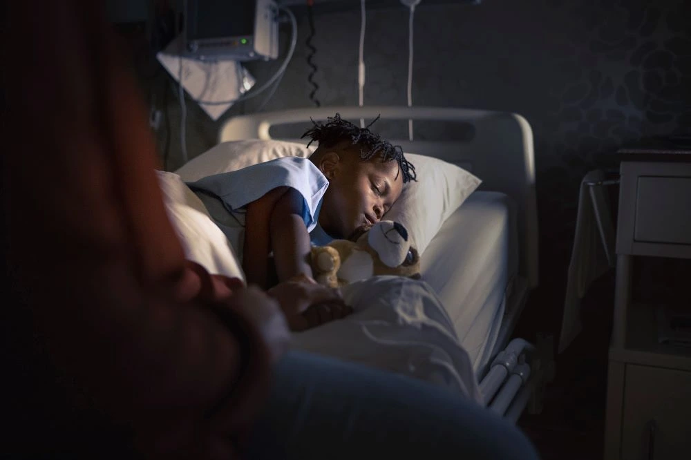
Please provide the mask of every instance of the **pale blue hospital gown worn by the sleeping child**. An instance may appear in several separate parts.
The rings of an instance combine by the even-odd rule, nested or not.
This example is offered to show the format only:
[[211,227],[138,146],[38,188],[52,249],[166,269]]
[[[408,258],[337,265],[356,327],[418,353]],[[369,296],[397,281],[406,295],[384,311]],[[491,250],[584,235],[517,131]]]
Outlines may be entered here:
[[307,158],[276,158],[187,185],[205,204],[240,260],[245,243],[245,207],[281,186],[289,186],[303,196],[302,218],[307,231],[317,237],[312,238],[314,244],[323,245],[330,238],[317,223],[329,181]]

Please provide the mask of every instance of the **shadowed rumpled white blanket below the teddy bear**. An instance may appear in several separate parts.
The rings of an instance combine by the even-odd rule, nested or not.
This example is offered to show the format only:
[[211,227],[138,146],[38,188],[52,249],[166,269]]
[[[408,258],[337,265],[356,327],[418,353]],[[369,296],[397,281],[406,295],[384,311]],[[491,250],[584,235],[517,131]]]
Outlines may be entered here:
[[343,288],[354,313],[294,334],[293,346],[432,382],[480,402],[470,356],[423,281],[375,276]]

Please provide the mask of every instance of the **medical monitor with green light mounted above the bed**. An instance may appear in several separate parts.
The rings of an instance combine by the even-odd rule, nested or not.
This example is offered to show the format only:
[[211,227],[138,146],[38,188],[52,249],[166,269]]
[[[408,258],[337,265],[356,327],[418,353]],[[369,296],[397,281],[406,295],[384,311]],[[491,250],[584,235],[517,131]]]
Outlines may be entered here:
[[278,57],[273,0],[187,0],[187,57],[254,61]]

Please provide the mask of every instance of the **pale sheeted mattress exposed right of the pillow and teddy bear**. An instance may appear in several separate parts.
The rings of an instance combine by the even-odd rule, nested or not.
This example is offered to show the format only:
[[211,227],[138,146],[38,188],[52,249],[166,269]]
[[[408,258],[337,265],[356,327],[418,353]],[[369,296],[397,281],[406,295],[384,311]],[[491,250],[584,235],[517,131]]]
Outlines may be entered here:
[[422,254],[422,278],[442,300],[476,372],[491,358],[518,272],[515,222],[507,195],[475,191]]

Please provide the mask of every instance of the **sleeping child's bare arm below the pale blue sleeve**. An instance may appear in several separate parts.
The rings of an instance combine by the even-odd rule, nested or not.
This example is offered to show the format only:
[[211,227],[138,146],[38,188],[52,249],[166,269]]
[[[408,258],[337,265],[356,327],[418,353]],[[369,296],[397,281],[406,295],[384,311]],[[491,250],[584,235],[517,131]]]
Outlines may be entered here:
[[285,186],[247,205],[243,255],[247,282],[267,287],[271,251],[279,282],[300,274],[312,277],[310,234],[302,211],[302,195]]

